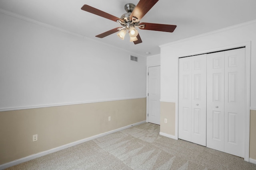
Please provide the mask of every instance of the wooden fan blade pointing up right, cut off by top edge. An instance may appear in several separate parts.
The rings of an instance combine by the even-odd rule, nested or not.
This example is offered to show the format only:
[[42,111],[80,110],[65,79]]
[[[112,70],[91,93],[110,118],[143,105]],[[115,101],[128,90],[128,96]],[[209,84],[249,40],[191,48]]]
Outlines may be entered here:
[[156,2],[158,2],[158,0],[140,0],[130,15],[130,20],[132,20],[132,17],[134,16],[138,18],[137,21],[140,21]]

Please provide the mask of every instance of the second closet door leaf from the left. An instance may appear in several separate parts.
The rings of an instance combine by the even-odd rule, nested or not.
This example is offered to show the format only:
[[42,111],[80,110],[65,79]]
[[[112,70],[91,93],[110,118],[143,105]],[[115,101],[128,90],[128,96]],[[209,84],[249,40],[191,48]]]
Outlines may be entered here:
[[206,146],[206,55],[192,58],[191,142]]

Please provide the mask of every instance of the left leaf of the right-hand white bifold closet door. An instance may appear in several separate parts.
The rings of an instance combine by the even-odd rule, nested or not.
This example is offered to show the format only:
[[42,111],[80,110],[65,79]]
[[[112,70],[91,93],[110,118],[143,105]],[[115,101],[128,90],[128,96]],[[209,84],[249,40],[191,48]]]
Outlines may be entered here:
[[206,146],[224,151],[224,52],[207,55]]

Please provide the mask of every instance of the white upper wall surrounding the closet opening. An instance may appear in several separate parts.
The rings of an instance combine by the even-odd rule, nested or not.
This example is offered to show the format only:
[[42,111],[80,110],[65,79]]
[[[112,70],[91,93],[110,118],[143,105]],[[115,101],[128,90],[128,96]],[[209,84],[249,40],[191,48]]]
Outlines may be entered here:
[[161,45],[161,101],[178,102],[178,58],[251,43],[251,107],[256,108],[256,20]]

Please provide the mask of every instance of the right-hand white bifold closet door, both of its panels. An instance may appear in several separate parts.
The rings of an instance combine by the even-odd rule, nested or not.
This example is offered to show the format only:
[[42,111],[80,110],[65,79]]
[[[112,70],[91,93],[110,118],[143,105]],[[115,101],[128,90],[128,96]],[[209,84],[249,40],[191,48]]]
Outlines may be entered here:
[[244,157],[245,48],[207,55],[207,147]]

